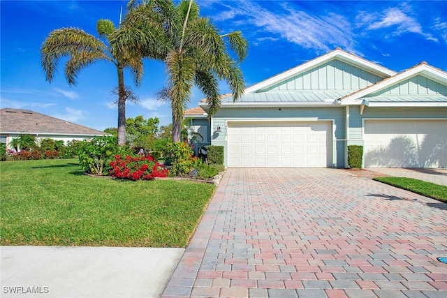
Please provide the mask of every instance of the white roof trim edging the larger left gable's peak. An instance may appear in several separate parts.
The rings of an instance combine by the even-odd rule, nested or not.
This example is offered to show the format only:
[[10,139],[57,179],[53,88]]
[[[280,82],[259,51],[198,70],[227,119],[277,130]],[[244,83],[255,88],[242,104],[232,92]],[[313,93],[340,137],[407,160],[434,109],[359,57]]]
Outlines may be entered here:
[[306,70],[314,68],[315,66],[328,62],[334,58],[338,58],[342,61],[349,62],[351,64],[359,66],[360,68],[366,68],[372,73],[376,73],[380,77],[391,77],[396,74],[394,70],[390,70],[388,68],[380,66],[379,64],[374,64],[371,61],[367,61],[366,59],[357,57],[353,54],[349,54],[348,52],[344,52],[343,50],[337,49],[332,52],[329,52],[328,54],[324,54],[323,56],[307,61],[304,64],[301,64],[300,66],[286,70],[284,71],[284,73],[280,73],[279,75],[270,77],[270,79],[259,82],[258,84],[254,84],[251,87],[246,88],[245,93],[253,93],[260,89],[264,89],[265,87],[286,80],[288,77],[292,77],[293,75],[297,75],[298,73],[303,73]]

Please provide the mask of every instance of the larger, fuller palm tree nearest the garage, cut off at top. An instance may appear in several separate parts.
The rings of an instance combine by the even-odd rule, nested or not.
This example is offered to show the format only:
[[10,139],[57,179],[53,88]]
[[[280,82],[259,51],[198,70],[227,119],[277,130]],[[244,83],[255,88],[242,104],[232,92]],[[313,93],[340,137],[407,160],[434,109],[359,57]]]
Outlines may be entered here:
[[[170,100],[173,112],[173,140],[179,142],[184,110],[194,84],[207,98],[209,117],[219,110],[221,104],[219,80],[226,80],[234,100],[243,93],[245,84],[237,63],[247,55],[247,40],[240,31],[221,35],[210,19],[199,16],[199,8],[193,0],[183,0],[177,6],[172,0],[135,2],[129,3],[130,11],[122,26],[143,29],[161,22],[166,44],[154,47],[149,36],[147,43],[133,45],[133,50],[142,56],[165,61],[168,71],[165,98]],[[114,36],[117,38],[114,41],[126,43],[126,40],[131,40],[129,32],[123,30],[120,36]],[[237,60],[230,56],[227,45]]]

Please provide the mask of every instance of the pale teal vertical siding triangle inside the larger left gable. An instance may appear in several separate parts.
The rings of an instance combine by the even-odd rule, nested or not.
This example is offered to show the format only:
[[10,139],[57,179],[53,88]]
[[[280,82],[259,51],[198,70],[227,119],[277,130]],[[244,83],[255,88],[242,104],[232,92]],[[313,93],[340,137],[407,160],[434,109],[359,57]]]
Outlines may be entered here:
[[294,90],[357,91],[381,80],[383,80],[383,77],[335,59],[258,92]]

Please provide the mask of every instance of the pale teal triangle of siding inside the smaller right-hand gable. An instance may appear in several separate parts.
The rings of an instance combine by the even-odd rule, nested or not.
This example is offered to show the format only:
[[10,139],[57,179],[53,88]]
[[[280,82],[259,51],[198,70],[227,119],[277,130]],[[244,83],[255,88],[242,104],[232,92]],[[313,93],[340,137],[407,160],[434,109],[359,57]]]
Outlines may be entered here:
[[416,75],[410,77],[386,89],[383,89],[374,94],[369,94],[366,97],[380,96],[380,95],[437,95],[441,94],[447,96],[447,85],[440,84],[430,80],[423,75]]

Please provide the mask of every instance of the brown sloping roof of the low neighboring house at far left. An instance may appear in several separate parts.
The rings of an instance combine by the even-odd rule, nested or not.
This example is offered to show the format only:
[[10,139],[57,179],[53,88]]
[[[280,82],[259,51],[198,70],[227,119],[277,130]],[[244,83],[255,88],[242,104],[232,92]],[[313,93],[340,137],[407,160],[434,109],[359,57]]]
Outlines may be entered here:
[[103,131],[74,124],[62,119],[22,109],[0,110],[1,133],[29,133],[47,135],[107,135]]

